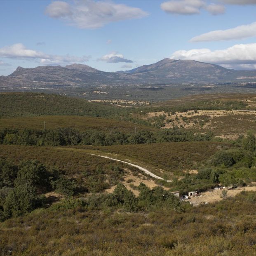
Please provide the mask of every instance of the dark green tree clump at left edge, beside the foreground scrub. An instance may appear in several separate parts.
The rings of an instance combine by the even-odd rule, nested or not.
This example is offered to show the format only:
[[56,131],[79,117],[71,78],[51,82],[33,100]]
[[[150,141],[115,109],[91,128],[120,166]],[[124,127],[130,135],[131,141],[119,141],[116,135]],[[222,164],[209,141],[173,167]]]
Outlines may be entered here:
[[44,192],[56,190],[73,195],[75,181],[56,169],[47,169],[37,160],[27,160],[18,166],[0,159],[0,219],[21,216],[45,203]]

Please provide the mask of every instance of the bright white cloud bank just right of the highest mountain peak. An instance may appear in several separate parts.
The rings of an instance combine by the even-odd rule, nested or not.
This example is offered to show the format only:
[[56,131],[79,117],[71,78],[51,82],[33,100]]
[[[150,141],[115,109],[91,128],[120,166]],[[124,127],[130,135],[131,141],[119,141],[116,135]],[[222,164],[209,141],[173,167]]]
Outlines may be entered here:
[[211,51],[210,49],[179,50],[171,55],[171,59],[192,59],[222,65],[255,65],[256,43],[234,45],[227,49]]

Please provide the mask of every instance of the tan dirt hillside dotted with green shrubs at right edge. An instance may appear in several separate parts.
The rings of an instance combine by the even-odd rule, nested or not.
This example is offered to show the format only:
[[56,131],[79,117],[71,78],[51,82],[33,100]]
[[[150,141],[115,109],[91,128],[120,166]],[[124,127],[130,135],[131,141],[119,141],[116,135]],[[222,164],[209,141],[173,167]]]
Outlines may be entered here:
[[160,111],[149,112],[142,118],[154,124],[161,117],[163,129],[180,127],[202,132],[211,130],[224,139],[236,139],[248,129],[256,128],[256,110],[190,110],[173,115]]

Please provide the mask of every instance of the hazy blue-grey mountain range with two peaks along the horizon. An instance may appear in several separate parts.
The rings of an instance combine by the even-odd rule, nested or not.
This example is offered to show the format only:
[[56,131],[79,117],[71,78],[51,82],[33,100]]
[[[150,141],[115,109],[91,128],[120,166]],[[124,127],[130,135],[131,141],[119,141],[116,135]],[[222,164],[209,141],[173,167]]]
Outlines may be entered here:
[[163,59],[151,65],[118,72],[103,72],[87,65],[73,64],[65,67],[18,67],[11,75],[0,76],[0,88],[5,89],[227,82],[256,82],[256,70],[230,70],[199,61]]

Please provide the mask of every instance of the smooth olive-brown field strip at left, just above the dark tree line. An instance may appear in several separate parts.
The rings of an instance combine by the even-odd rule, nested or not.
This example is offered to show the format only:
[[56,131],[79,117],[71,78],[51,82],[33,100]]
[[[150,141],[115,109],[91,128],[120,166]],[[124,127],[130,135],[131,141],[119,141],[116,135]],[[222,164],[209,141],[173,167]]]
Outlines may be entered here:
[[131,132],[143,130],[155,130],[153,127],[138,125],[132,122],[118,121],[100,117],[85,117],[75,115],[41,115],[37,117],[13,117],[1,118],[0,129],[18,128],[18,129],[54,129],[61,127],[73,127],[81,132],[87,129],[99,129],[102,131],[118,130],[120,132]]

